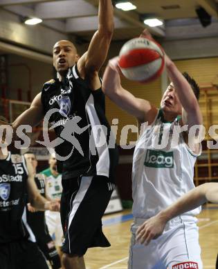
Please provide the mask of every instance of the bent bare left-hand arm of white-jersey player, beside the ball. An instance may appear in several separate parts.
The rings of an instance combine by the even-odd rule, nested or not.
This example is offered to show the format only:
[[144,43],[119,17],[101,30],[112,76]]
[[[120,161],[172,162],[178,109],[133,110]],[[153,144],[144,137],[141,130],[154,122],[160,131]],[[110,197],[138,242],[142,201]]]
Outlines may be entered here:
[[102,79],[102,91],[120,108],[138,119],[140,123],[152,123],[157,109],[144,99],[134,97],[131,92],[122,88],[118,69],[118,57],[109,61]]

